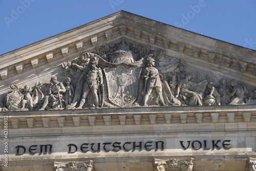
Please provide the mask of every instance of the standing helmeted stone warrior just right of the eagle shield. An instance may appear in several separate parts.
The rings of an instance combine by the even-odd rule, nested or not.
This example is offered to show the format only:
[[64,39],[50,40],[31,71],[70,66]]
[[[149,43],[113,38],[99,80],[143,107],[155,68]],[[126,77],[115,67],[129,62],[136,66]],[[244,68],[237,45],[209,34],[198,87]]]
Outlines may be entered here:
[[162,96],[162,83],[161,79],[163,78],[157,68],[155,68],[154,55],[148,56],[148,66],[145,68],[145,71],[142,75],[144,78],[144,97],[142,105],[146,106],[148,97],[151,95],[152,90],[155,88],[157,91],[158,99],[161,106],[165,106],[163,96]]

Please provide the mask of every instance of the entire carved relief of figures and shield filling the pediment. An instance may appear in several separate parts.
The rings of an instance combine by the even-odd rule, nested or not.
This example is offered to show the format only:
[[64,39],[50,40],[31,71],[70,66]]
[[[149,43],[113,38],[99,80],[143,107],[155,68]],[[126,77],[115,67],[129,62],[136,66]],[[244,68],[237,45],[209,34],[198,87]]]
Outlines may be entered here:
[[85,52],[62,67],[50,83],[12,85],[0,109],[256,104],[255,88],[249,90],[234,79],[228,84],[226,78],[212,79],[207,74],[203,78],[203,73],[186,71],[184,60],[153,51],[149,45],[102,44],[95,53]]

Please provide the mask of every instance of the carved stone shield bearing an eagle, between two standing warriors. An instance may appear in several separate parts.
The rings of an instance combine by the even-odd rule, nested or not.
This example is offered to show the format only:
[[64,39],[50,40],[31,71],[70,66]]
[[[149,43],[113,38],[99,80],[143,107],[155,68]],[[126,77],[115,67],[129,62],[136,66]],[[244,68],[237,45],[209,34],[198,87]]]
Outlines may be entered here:
[[131,106],[138,96],[141,68],[127,65],[104,68],[109,101],[119,107]]

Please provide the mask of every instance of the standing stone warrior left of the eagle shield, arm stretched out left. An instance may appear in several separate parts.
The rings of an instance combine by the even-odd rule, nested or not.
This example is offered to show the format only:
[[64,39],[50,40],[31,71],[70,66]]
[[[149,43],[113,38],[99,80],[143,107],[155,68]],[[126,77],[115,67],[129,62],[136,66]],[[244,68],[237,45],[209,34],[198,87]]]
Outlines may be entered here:
[[[84,75],[84,83],[82,87],[82,97],[79,103],[78,109],[83,108],[84,103],[86,102],[86,98],[91,93],[93,97],[94,103],[92,104],[94,107],[99,107],[99,97],[98,97],[98,89],[99,86],[103,86],[103,78],[102,71],[100,68],[96,66],[95,61],[90,63],[90,67],[82,67],[77,64],[73,64],[78,69],[86,71],[86,75]],[[103,102],[101,102],[103,103]]]

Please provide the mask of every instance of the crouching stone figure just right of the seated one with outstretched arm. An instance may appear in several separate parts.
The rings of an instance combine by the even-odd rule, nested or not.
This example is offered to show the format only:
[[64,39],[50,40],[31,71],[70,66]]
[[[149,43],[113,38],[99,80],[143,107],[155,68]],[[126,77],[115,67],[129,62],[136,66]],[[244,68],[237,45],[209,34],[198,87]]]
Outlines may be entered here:
[[217,103],[217,105],[221,105],[221,95],[214,87],[214,83],[208,82],[205,88],[205,96],[204,96],[204,103],[208,106]]

